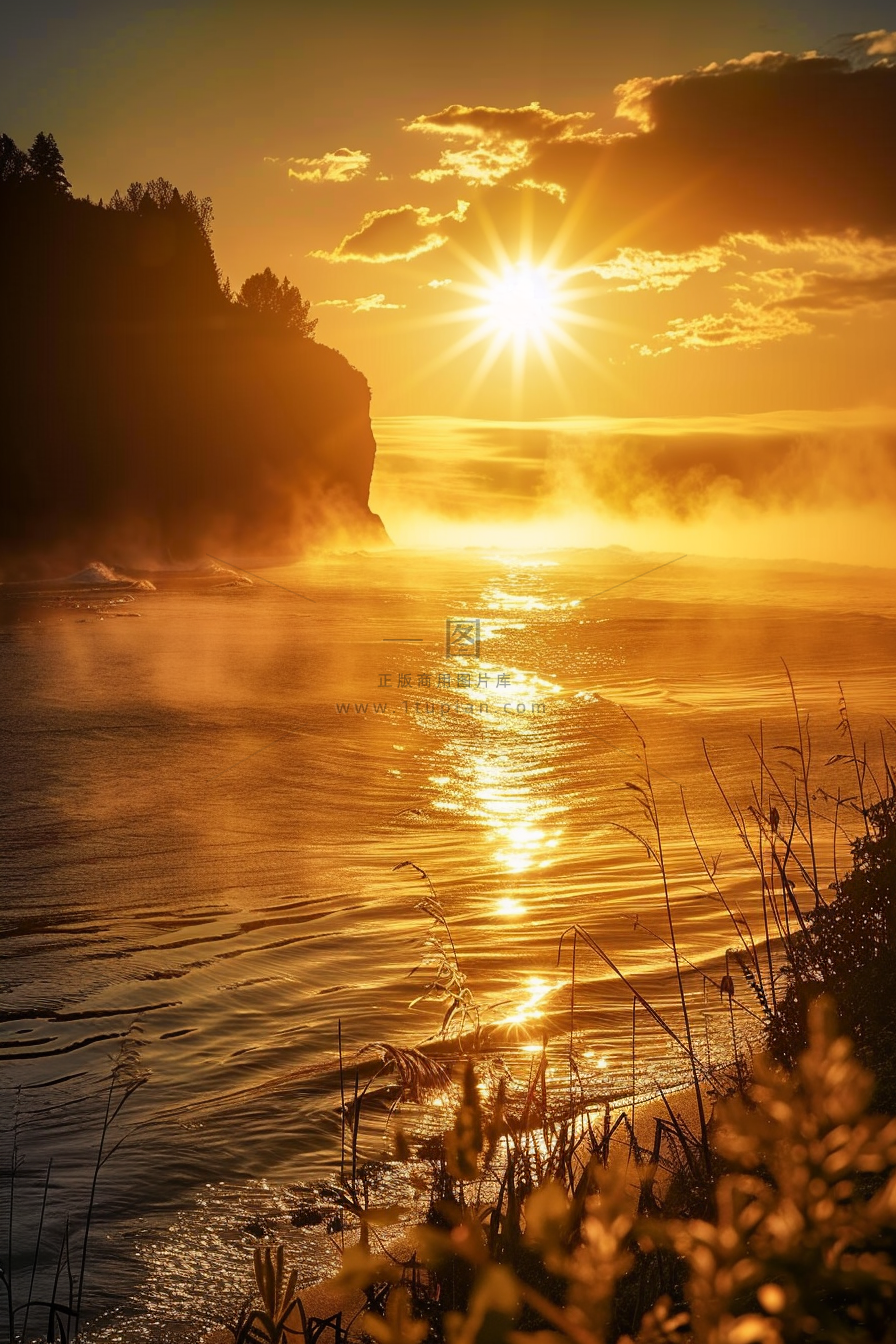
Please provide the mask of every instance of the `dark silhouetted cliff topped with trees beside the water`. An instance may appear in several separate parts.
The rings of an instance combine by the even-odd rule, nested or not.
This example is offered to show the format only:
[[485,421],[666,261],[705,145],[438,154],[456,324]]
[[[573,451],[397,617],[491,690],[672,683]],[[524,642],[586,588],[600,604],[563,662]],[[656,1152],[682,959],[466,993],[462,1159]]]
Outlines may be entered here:
[[208,200],[163,181],[73,199],[58,151],[34,153],[0,142],[7,577],[384,542],[369,388],[310,339],[294,286],[289,314],[232,301]]

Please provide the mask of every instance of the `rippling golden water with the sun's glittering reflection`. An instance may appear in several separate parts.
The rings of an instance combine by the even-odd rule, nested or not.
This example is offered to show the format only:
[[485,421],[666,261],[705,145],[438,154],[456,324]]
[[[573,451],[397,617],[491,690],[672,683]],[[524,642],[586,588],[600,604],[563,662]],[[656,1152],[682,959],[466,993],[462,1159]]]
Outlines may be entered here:
[[[760,741],[793,789],[787,668],[817,782],[854,794],[825,762],[844,750],[841,687],[872,763],[891,732],[896,586],[888,570],[672,559],[394,551],[0,591],[0,1086],[20,1275],[51,1160],[40,1274],[66,1212],[77,1269],[122,1044],[146,1078],[98,1187],[90,1337],[214,1320],[263,1234],[292,1238],[306,1277],[333,1262],[325,1224],[293,1215],[321,1207],[339,1165],[339,1032],[363,1083],[376,1043],[445,1052],[445,1001],[411,1007],[435,973],[430,883],[493,1066],[525,1078],[545,1050],[562,1086],[572,1032],[588,1098],[625,1103],[631,995],[579,945],[574,1000],[562,938],[586,929],[680,1021],[661,879],[630,833],[639,739],[701,1020],[700,970],[719,974],[735,937],[682,797],[755,918],[707,754],[744,809]],[[821,841],[832,872],[844,817],[837,852]],[[638,1093],[678,1082],[669,1039],[646,1015],[635,1032]]]

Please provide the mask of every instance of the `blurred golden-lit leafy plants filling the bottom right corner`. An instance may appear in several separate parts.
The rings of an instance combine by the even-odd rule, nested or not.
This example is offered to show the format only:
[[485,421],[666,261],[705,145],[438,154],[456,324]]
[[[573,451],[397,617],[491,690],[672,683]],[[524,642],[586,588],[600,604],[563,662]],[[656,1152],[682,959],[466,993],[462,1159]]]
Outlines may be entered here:
[[[747,1094],[720,1106],[721,1175],[707,1219],[652,1211],[642,1193],[653,1173],[623,1157],[592,1160],[574,1188],[545,1181],[516,1214],[506,1180],[496,1198],[470,1199],[489,1126],[467,1095],[449,1142],[451,1195],[415,1230],[412,1254],[345,1251],[334,1286],[364,1289],[372,1308],[357,1333],[376,1344],[631,1340],[621,1302],[645,1257],[668,1255],[682,1288],[642,1304],[637,1344],[896,1340],[896,1120],[869,1113],[873,1078],[838,1035],[829,1000],[813,1005],[809,1036],[793,1073],[760,1063]],[[449,1282],[463,1285],[459,1300]],[[273,1329],[259,1314],[249,1320],[235,1332],[240,1344],[308,1339],[298,1312]]]

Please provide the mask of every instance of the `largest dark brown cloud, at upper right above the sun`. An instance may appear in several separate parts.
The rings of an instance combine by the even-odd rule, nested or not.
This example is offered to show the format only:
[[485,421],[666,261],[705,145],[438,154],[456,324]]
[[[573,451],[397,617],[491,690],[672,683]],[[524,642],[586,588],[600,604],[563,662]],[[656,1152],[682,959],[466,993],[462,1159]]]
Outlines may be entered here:
[[617,97],[634,133],[531,142],[527,176],[559,183],[580,206],[570,230],[579,255],[609,239],[685,251],[733,233],[896,235],[887,56],[860,67],[759,52],[630,79]]

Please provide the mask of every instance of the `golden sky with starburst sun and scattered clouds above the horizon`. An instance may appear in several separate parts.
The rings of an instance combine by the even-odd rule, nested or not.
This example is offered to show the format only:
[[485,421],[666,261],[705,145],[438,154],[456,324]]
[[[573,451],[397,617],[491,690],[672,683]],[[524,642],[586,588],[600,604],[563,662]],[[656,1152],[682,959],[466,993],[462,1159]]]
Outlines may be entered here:
[[[553,476],[621,521],[892,517],[889,0],[11,12],[4,129],[52,130],[94,199],[211,195],[234,286],[287,273],[367,375],[392,473],[408,418],[418,474],[435,444],[466,462],[470,425],[549,421]],[[478,435],[504,503],[556,492],[532,434],[519,478]]]

